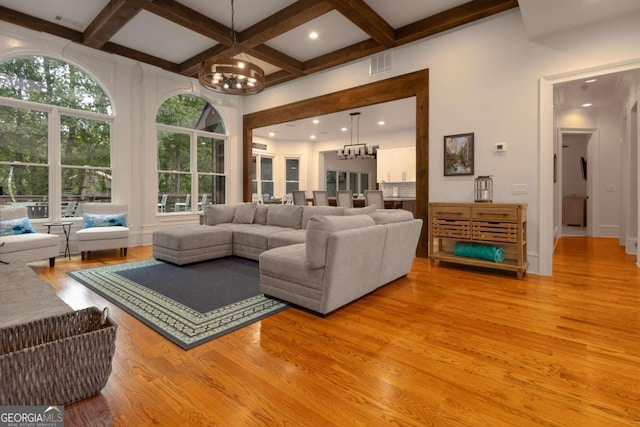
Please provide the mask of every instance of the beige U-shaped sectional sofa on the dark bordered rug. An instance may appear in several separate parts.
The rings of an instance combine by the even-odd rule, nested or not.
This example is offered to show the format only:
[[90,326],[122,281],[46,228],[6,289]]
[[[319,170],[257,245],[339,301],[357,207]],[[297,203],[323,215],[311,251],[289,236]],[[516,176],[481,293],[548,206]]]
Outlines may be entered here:
[[155,232],[153,253],[176,264],[259,260],[264,294],[326,314],[409,273],[421,228],[401,209],[210,205],[202,226]]

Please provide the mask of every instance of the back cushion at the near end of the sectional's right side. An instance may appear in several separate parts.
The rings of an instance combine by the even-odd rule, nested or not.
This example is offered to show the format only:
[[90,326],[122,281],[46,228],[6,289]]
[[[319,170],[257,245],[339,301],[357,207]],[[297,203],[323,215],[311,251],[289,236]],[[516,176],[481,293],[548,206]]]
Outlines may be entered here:
[[[375,225],[369,215],[314,215],[307,224],[306,260],[307,268],[322,268],[327,259],[329,235],[336,231]],[[364,248],[363,248],[364,249]]]

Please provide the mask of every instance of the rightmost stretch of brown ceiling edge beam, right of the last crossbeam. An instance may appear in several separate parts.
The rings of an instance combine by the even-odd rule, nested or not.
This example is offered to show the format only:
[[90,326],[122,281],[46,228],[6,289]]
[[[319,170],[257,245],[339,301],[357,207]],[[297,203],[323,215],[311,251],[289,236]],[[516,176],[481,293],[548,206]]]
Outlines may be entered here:
[[474,0],[396,30],[396,44],[422,38],[518,7],[517,0]]

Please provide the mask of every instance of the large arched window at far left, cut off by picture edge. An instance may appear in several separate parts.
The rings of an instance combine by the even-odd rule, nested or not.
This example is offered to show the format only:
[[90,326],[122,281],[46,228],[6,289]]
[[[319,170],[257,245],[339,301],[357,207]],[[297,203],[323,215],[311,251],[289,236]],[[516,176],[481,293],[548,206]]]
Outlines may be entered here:
[[44,56],[0,63],[0,204],[59,219],[109,202],[112,120],[106,93],[80,68]]

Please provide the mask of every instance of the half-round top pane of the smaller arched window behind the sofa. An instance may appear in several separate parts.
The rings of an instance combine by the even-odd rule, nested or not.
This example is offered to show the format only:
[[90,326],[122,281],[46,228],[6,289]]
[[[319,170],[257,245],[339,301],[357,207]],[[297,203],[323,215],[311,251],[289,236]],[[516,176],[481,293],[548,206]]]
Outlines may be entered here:
[[178,95],[167,99],[158,110],[156,123],[225,133],[224,122],[216,109],[204,99],[193,95]]

